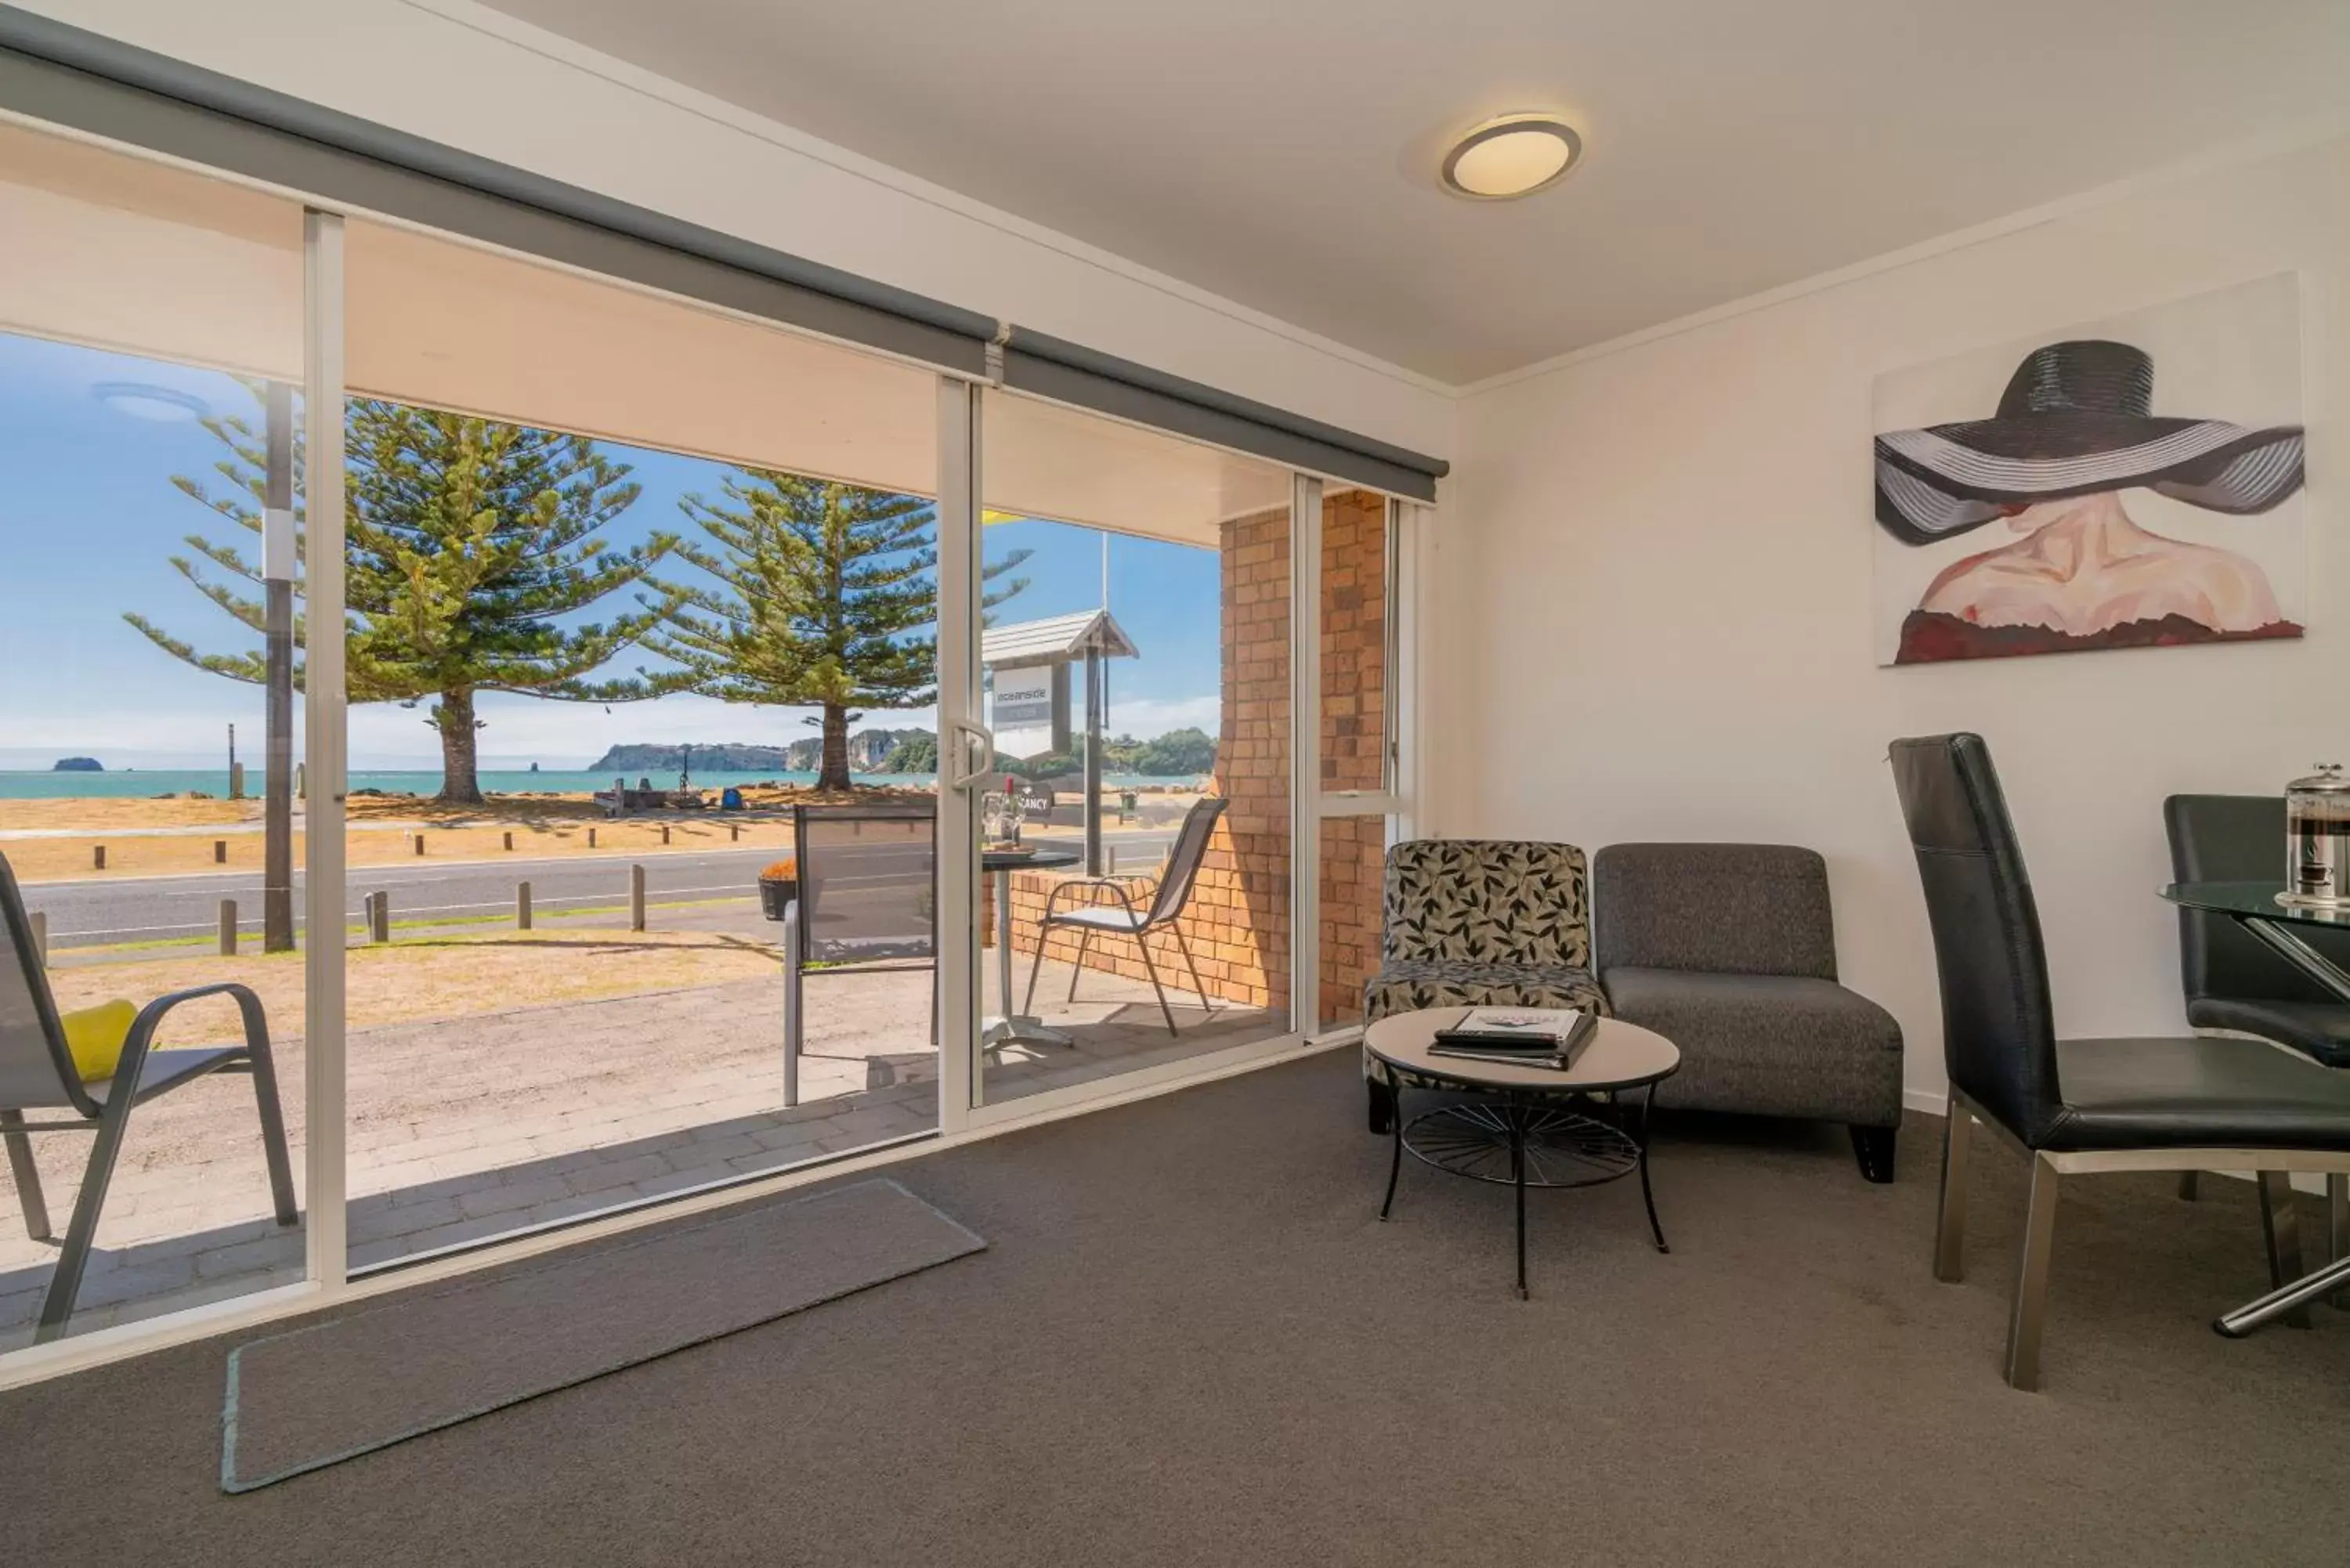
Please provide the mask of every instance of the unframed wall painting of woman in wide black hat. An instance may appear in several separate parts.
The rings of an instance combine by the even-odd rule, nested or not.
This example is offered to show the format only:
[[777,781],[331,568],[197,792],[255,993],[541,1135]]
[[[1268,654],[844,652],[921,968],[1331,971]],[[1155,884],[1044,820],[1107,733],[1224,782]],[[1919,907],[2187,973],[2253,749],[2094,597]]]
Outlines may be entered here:
[[[2251,534],[2301,491],[2301,425],[2157,416],[2155,371],[2138,343],[2042,343],[1990,418],[1878,435],[1878,527],[1899,552],[1941,562],[1908,602],[1892,663],[2301,635]],[[2240,522],[2221,538],[2176,538],[2131,505]],[[1960,536],[1974,548],[1946,559],[1953,550],[1936,548]],[[2275,541],[2258,550],[2291,552]]]

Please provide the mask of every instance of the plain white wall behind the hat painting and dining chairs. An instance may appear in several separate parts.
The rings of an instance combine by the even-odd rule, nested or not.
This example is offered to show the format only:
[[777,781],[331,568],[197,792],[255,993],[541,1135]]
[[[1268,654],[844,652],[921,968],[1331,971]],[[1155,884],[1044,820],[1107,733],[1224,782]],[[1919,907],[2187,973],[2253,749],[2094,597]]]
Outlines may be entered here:
[[[2303,642],[1875,665],[1875,374],[2277,270],[2303,282]],[[1443,827],[1819,849],[1842,976],[1901,1018],[1922,1100],[1941,1013],[1885,743],[1976,729],[2030,856],[2059,1027],[2181,1032],[2162,797],[2350,759],[2345,287],[2350,141],[2329,141],[1473,390]]]

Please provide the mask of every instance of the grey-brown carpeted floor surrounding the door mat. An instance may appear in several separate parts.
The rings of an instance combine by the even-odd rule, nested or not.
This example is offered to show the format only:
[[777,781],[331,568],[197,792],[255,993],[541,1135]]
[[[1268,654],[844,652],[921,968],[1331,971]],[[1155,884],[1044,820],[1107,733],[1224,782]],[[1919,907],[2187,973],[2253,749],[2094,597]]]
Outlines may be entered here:
[[1633,1185],[1506,1192],[1361,1131],[1354,1053],[891,1173],[989,1251],[263,1493],[226,1345],[0,1396],[9,1556],[73,1563],[2341,1563],[2350,1314],[2249,1342],[2247,1182],[2070,1182],[2047,1392],[1998,1375],[2021,1164],[1965,1286],[1932,1138],[1673,1121]]

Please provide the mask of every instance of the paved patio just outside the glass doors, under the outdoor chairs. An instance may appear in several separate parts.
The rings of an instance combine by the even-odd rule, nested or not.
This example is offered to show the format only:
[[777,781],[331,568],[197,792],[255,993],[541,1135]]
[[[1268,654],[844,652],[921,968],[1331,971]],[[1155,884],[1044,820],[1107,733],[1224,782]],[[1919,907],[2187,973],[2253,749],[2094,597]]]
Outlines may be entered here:
[[[698,919],[740,922],[738,910]],[[992,964],[987,1009],[994,1011]],[[1022,976],[1025,978],[1025,976]],[[1257,1039],[1267,1013],[1175,999],[1170,1039],[1142,983],[1048,964],[1039,1013],[1074,1048],[1006,1046],[987,1100],[1062,1088]],[[783,987],[740,980],[355,1032],[348,1041],[352,1267],[475,1244],[613,1204],[780,1171],[938,1119],[928,971],[806,980],[801,1105],[783,1105]],[[280,1041],[280,1091],[303,1145],[303,1060]],[[33,1140],[59,1229],[89,1143]],[[54,1244],[24,1237],[0,1173],[0,1349],[31,1338]],[[139,1107],[99,1225],[73,1331],[301,1279],[301,1229],[268,1218],[251,1079],[216,1077]]]

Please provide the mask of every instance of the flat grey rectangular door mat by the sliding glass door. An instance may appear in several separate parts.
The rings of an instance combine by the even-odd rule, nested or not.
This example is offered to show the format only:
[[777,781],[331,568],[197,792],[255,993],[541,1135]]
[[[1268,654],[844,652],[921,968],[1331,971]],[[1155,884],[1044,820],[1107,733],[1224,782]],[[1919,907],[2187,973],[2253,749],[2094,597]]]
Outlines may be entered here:
[[987,1244],[893,1180],[663,1227],[228,1352],[221,1490],[249,1493]]

